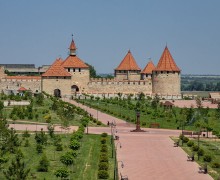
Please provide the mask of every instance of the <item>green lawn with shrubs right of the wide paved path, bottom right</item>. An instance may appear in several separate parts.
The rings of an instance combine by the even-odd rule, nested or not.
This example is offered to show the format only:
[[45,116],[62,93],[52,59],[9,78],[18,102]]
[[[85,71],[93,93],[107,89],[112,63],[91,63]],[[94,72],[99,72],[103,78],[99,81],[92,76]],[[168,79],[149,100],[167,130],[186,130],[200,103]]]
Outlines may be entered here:
[[[177,138],[172,138],[175,142],[177,141]],[[197,138],[190,138],[191,141],[194,142],[195,145],[198,145],[198,139]],[[181,142],[180,142],[181,144]],[[183,144],[183,146],[180,146],[188,155],[191,155],[193,153],[192,147],[188,147],[186,143]],[[207,139],[202,138],[199,141],[199,147],[204,150],[204,155],[211,155],[212,161],[208,163],[208,173],[214,178],[218,179],[220,177],[220,168],[212,168],[213,162],[220,163],[220,141],[217,139]],[[205,161],[203,160],[203,156],[199,157],[198,160],[198,154],[197,152],[194,152],[195,154],[195,161],[202,166]]]

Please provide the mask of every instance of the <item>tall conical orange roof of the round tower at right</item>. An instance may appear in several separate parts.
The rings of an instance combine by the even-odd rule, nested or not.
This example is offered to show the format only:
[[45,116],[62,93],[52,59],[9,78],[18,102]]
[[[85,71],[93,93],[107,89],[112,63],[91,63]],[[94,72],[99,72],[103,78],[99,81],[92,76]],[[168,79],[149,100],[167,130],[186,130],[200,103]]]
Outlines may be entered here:
[[172,55],[170,54],[169,49],[167,46],[165,47],[163,54],[157,64],[157,67],[154,71],[175,71],[180,72],[180,69],[176,65]]

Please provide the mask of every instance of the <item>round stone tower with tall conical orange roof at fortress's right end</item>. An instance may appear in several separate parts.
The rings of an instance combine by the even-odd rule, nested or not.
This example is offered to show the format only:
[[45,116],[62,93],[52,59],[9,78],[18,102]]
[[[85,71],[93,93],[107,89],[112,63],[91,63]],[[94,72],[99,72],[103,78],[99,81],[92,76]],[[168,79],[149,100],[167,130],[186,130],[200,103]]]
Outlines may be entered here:
[[167,46],[153,70],[152,90],[155,94],[161,95],[179,95],[180,90],[180,72]]

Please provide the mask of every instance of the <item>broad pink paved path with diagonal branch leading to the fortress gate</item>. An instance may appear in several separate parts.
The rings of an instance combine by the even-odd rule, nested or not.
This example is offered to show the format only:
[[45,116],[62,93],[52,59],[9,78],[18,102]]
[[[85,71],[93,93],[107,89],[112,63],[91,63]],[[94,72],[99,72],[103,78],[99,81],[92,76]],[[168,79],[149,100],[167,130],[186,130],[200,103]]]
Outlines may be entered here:
[[[112,117],[82,104],[70,101],[99,121],[107,124],[114,122],[116,127],[89,127],[88,132],[101,134],[111,131],[119,140],[115,140],[115,149],[119,174],[127,175],[129,180],[211,180],[208,174],[198,173],[199,165],[196,162],[187,161],[187,154],[180,147],[173,147],[171,136],[179,136],[179,130],[149,129],[146,132],[130,132],[134,129],[121,119]],[[121,145],[121,148],[120,148]],[[124,168],[121,168],[121,161]]]

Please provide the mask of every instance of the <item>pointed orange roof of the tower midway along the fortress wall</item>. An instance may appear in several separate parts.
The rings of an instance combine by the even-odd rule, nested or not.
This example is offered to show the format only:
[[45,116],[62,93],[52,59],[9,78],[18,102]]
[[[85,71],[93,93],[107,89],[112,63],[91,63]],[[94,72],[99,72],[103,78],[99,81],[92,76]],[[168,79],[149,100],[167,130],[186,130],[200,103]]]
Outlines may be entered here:
[[141,70],[134,57],[131,54],[131,51],[129,50],[122,62],[119,64],[119,66],[115,70]]

